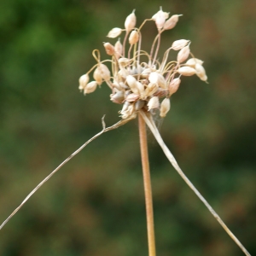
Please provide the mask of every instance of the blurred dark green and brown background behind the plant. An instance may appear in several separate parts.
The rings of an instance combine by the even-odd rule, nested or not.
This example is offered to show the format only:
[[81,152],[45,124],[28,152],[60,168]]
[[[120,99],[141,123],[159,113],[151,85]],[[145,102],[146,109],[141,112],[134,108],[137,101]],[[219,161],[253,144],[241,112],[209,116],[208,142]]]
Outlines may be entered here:
[[[209,84],[183,78],[160,132],[177,162],[248,251],[256,254],[256,2],[254,0],[2,0],[0,3],[1,223],[62,160],[119,119],[102,85],[79,77],[93,49],[136,9],[183,14],[163,34],[205,61]],[[143,30],[146,49],[156,32]],[[145,40],[145,38],[148,38]],[[109,40],[114,43],[114,40]],[[148,42],[147,42],[148,41]],[[148,131],[159,256],[243,255],[166,160]],[[4,256],[148,255],[137,120],[67,163],[0,231]]]

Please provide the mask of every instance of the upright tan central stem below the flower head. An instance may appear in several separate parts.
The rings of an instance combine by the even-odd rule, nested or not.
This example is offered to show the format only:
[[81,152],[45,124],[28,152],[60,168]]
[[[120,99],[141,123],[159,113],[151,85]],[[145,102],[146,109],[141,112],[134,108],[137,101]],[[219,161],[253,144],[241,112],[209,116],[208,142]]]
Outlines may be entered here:
[[148,256],[155,256],[154,242],[154,213],[152,189],[150,182],[149,161],[148,161],[148,142],[146,124],[141,114],[138,114],[140,148],[143,165],[143,183],[145,192],[146,215],[147,215],[147,230],[148,230]]

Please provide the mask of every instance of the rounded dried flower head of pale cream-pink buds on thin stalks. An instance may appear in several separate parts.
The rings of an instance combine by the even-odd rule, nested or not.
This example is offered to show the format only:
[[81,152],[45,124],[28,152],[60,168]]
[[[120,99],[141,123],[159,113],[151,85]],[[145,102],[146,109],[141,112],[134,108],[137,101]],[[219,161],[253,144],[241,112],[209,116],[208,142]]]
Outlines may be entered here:
[[[123,105],[119,111],[122,119],[136,118],[137,112],[142,109],[151,113],[159,109],[160,117],[165,117],[171,108],[170,97],[177,91],[182,76],[196,74],[201,80],[207,81],[205,69],[202,67],[203,61],[190,53],[189,40],[174,41],[172,46],[166,49],[162,61],[159,61],[161,33],[176,26],[179,16],[172,15],[168,19],[169,14],[160,9],[137,28],[137,19],[133,11],[125,20],[125,29],[114,27],[108,32],[108,38],[117,38],[125,32],[123,44],[119,39],[114,45],[104,43],[104,48],[111,58],[102,61],[100,51],[93,51],[97,63],[80,77],[79,90],[84,91],[85,95],[96,90],[102,82],[106,82],[111,89],[111,101]],[[158,31],[149,54],[142,49],[141,32],[148,20],[154,20]],[[129,49],[126,52],[127,41]],[[168,60],[171,50],[178,51],[177,60]],[[142,59],[146,61],[141,61]],[[111,71],[106,66],[107,62],[111,64]],[[92,72],[94,80],[89,82],[89,74]]]

